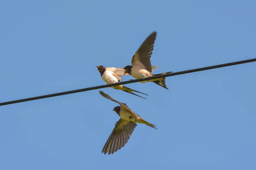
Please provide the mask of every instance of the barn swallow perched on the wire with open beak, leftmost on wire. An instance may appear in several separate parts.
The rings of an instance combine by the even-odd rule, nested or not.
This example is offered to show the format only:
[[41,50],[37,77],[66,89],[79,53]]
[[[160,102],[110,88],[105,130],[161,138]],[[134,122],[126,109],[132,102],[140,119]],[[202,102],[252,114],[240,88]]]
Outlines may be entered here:
[[[122,81],[122,76],[124,75],[124,72],[125,72],[125,70],[123,68],[114,68],[114,67],[105,68],[102,65],[97,66],[97,68],[100,72],[102,79],[108,84],[113,84],[113,83]],[[124,85],[116,85],[116,86],[112,86],[112,88],[125,91],[125,92],[127,92],[129,94],[133,94],[135,96],[139,96],[139,95],[134,94],[133,91],[135,91],[137,93],[141,93],[139,91],[125,87]],[[145,94],[145,93],[141,93],[141,94]],[[145,95],[148,96],[148,94],[145,94]],[[139,97],[146,99],[142,96],[139,96]]]

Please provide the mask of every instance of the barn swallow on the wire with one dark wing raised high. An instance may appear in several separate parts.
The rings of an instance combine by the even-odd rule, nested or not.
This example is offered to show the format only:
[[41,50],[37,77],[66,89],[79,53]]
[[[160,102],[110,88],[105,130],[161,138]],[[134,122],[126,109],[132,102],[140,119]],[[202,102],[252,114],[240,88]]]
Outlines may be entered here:
[[[150,61],[150,58],[154,49],[154,41],[156,40],[156,36],[157,36],[157,32],[156,31],[152,32],[146,38],[146,40],[140,45],[139,49],[136,51],[136,53],[131,59],[131,65],[125,66],[124,75],[130,74],[131,77],[134,77],[135,79],[141,79],[146,77],[172,73],[172,71],[170,71],[170,72],[161,73],[161,74],[152,74],[152,71],[158,68],[158,66],[155,66],[155,65],[151,66],[151,61]],[[165,79],[166,78],[163,77],[158,79],[142,81],[141,83],[154,82],[157,85],[160,85],[163,88],[168,89],[165,84]]]

